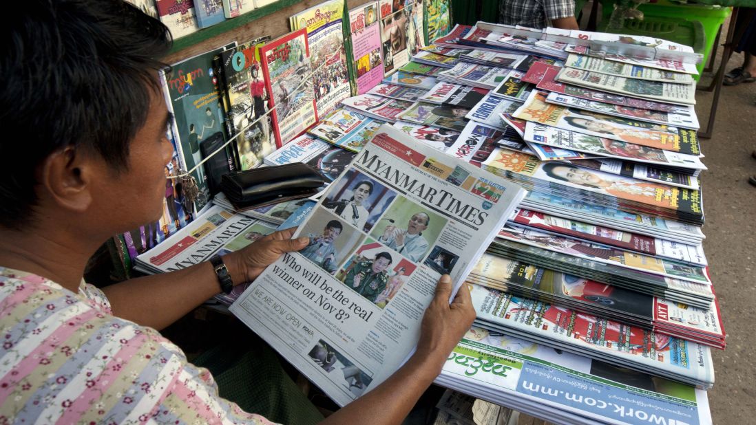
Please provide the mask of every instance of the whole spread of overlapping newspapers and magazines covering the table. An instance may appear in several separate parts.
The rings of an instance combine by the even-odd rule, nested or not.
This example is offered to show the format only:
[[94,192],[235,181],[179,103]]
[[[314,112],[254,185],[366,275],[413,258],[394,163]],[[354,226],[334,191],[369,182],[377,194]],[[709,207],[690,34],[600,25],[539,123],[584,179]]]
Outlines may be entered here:
[[529,191],[470,270],[476,328],[438,383],[556,423],[711,423],[726,333],[702,248],[700,57],[488,23],[423,51],[403,69],[444,63],[434,86],[345,106]]

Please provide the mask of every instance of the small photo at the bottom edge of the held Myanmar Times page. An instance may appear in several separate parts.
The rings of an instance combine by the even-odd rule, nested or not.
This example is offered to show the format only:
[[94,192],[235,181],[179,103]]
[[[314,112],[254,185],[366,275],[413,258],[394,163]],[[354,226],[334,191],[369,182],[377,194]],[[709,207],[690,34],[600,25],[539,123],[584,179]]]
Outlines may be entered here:
[[361,396],[365,388],[373,381],[372,377],[361,371],[324,340],[318,340],[308,356],[316,365],[326,371],[331,382],[355,396]]

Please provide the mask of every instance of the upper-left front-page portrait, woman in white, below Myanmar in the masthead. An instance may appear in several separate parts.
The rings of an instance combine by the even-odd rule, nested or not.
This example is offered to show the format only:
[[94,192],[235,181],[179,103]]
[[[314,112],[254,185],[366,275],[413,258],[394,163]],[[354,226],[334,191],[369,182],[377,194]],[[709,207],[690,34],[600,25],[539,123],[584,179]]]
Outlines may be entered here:
[[349,170],[328,189],[323,206],[367,233],[395,197],[396,192],[377,180]]

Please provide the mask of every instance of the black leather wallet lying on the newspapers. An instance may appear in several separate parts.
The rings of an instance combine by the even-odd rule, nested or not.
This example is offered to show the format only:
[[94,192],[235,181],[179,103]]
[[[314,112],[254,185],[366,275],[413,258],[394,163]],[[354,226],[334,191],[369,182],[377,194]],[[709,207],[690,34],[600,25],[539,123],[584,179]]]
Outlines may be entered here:
[[259,208],[318,193],[327,180],[301,162],[225,174],[221,186],[238,210]]

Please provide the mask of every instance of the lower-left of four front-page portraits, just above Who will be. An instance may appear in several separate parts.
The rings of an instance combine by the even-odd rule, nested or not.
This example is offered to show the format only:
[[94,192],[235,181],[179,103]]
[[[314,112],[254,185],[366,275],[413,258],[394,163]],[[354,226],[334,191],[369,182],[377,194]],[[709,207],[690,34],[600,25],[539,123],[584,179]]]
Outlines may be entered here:
[[310,238],[310,243],[299,254],[330,274],[336,272],[339,263],[355,251],[365,237],[324,208],[312,211],[299,236]]

